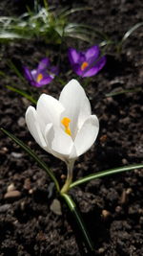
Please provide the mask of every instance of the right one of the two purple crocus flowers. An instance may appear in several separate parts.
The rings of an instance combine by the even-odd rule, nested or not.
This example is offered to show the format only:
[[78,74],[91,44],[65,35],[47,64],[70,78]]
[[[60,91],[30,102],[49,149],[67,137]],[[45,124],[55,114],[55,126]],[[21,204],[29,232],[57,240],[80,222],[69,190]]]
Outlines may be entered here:
[[70,48],[68,55],[72,70],[82,78],[96,75],[106,63],[106,57],[100,56],[100,49],[97,45],[85,52],[77,52],[74,48]]

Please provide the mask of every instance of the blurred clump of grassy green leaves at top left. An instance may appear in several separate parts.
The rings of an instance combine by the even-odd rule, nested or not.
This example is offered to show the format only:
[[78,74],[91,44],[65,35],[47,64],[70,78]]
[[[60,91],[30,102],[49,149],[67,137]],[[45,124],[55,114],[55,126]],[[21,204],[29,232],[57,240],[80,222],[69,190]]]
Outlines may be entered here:
[[[45,1],[46,3],[46,1]],[[34,37],[44,38],[49,43],[62,43],[62,31],[67,26],[64,36],[75,37],[90,42],[90,31],[94,35],[104,36],[102,33],[93,30],[89,25],[74,24],[68,21],[73,12],[92,10],[90,7],[64,8],[56,10],[53,7],[38,7],[34,12],[25,12],[18,17],[0,17],[0,41],[16,39],[31,39]],[[56,34],[54,35],[53,34]],[[89,35],[89,38],[88,38]],[[105,36],[104,36],[105,37]],[[107,36],[106,36],[107,37]]]

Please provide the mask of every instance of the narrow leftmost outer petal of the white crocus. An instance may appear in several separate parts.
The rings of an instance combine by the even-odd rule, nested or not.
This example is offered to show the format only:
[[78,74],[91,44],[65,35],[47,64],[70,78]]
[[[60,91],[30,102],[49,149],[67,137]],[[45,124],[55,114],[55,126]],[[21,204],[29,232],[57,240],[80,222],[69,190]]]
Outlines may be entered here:
[[33,106],[29,106],[27,109],[26,123],[31,132],[32,137],[39,144],[39,146],[42,147],[43,149],[47,148],[46,141],[43,137],[43,134],[39,125],[38,115]]

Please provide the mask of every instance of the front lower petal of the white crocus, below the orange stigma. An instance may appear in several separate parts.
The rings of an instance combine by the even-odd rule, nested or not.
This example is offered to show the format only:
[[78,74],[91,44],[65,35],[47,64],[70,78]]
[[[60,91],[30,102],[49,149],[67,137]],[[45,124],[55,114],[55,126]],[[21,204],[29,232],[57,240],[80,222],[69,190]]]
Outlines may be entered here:
[[61,128],[52,127],[45,130],[45,139],[51,153],[56,157],[66,160],[69,159],[72,151],[72,137]]

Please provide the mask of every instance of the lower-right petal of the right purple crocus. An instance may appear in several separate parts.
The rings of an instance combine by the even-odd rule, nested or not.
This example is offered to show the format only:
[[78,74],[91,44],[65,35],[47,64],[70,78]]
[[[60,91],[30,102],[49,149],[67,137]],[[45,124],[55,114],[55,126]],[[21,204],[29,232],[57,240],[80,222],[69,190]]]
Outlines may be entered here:
[[83,72],[82,77],[92,77],[94,75],[96,75],[105,65],[106,63],[106,57],[102,57],[100,58],[97,63],[92,67],[92,68],[87,68],[86,72]]

